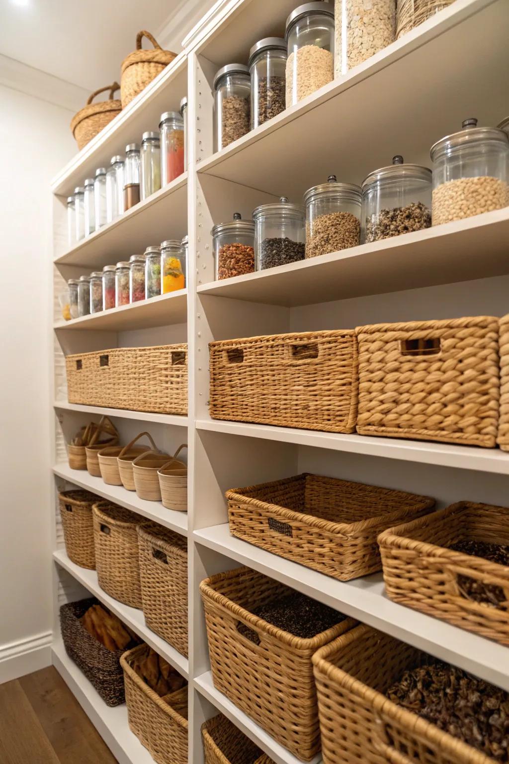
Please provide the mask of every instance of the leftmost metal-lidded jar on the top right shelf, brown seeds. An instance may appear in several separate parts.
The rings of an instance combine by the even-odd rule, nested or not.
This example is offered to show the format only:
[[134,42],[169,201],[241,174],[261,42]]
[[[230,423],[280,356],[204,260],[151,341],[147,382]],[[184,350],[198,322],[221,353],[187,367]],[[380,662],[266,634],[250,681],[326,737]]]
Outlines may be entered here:
[[251,78],[243,63],[229,63],[214,77],[214,151],[250,131]]

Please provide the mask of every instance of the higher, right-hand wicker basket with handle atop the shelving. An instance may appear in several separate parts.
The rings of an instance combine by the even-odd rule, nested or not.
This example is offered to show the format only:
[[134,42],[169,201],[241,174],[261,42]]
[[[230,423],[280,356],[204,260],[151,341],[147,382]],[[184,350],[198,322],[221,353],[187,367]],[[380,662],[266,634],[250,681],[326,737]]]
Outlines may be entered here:
[[[147,37],[153,44],[155,50],[142,50],[141,41]],[[122,62],[121,72],[121,102],[122,108],[125,108],[149,83],[154,77],[160,74],[163,69],[176,58],[176,53],[171,50],[163,50],[156,43],[150,32],[138,32],[136,37],[136,50],[130,53]]]

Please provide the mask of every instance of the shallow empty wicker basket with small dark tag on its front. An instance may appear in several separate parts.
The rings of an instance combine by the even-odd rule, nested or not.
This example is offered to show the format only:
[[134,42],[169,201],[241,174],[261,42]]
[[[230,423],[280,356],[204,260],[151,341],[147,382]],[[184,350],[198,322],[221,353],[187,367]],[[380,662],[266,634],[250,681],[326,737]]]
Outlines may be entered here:
[[340,581],[379,571],[378,533],[435,503],[307,473],[227,490],[226,497],[232,536]]

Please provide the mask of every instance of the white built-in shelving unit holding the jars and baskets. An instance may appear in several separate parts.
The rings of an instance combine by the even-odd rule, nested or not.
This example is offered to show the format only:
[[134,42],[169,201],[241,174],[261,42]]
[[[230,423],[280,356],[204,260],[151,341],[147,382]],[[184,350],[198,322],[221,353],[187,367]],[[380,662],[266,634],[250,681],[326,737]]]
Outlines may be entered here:
[[[507,504],[509,455],[497,449],[337,435],[221,422],[208,413],[208,343],[288,331],[349,329],[412,319],[509,312],[509,209],[395,239],[364,244],[223,282],[214,281],[211,227],[233,212],[305,189],[336,173],[359,183],[394,154],[429,166],[429,148],[477,116],[507,115],[507,0],[456,0],[401,40],[297,106],[212,151],[212,79],[220,66],[246,61],[250,45],[281,36],[296,0],[223,0],[185,40],[185,50],[53,182],[55,292],[63,280],[164,238],[189,236],[182,292],[85,319],[63,322],[55,309],[53,483],[79,486],[150,517],[188,540],[189,659],[151,632],[140,610],[98,587],[94,571],[70,562],[56,513],[53,662],[121,764],[152,759],[127,725],[125,707],[108,709],[66,656],[58,607],[89,591],[189,679],[189,764],[203,764],[201,724],[222,711],[276,764],[297,759],[214,688],[199,583],[250,567],[346,614],[509,690],[509,650],[388,600],[381,575],[335,581],[230,536],[224,491],[303,471],[432,495],[437,505],[470,499]],[[468,53],[466,53],[468,51]],[[161,112],[188,94],[188,172],[121,219],[68,251],[65,197],[125,144],[156,128]],[[55,300],[56,305],[56,300]],[[63,355],[103,348],[188,342],[188,416],[66,402]],[[65,442],[107,414],[127,442],[147,429],[172,453],[188,443],[188,513],[143,501],[122,487],[71,470]],[[318,761],[318,759],[317,759]]]

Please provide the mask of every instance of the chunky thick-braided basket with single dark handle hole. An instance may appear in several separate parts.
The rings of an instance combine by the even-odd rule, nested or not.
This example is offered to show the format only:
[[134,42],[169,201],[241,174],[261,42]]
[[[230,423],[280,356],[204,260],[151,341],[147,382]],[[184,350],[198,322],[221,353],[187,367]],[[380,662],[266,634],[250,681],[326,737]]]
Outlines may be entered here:
[[356,332],[357,432],[495,446],[498,319],[378,324]]

